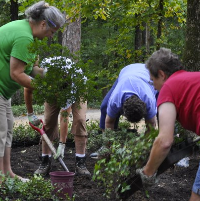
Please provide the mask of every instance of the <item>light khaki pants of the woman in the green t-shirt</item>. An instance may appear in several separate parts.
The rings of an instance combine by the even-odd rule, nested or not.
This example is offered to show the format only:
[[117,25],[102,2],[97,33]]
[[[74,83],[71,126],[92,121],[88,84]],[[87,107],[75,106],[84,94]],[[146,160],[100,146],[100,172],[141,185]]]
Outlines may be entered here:
[[0,96],[0,157],[4,156],[5,147],[12,146],[13,122],[11,99]]

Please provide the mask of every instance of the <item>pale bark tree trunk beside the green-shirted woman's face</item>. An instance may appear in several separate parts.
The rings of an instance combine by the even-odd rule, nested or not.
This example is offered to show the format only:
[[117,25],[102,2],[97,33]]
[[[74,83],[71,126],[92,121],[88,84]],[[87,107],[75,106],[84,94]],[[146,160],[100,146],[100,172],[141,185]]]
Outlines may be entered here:
[[69,23],[64,32],[62,45],[67,46],[70,53],[77,54],[81,46],[81,18]]

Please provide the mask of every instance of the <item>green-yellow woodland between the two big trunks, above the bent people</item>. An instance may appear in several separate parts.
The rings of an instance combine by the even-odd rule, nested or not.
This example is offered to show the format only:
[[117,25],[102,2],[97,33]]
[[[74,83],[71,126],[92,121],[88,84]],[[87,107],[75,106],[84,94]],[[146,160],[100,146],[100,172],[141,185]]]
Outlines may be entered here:
[[[144,62],[159,47],[183,53],[186,0],[98,3],[88,6],[94,15],[83,17],[81,56],[93,61],[90,67],[97,72],[99,86],[109,88],[125,65]],[[101,12],[99,5],[104,5]]]

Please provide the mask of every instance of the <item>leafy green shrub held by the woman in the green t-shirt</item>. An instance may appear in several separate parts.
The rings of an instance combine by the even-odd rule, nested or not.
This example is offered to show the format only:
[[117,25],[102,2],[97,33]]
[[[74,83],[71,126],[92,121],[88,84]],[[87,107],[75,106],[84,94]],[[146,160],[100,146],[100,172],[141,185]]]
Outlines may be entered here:
[[[35,41],[30,51],[40,56],[40,62],[44,58],[51,58],[50,63],[40,64],[47,69],[46,75],[43,78],[37,75],[32,81],[37,104],[46,101],[65,107],[67,101],[80,103],[90,101],[94,95],[99,96],[100,93],[95,89],[95,76],[87,69],[88,63],[70,54],[66,47],[57,43],[47,45],[47,41],[43,40]],[[63,58],[71,59],[72,63]],[[67,67],[69,65],[70,68]]]

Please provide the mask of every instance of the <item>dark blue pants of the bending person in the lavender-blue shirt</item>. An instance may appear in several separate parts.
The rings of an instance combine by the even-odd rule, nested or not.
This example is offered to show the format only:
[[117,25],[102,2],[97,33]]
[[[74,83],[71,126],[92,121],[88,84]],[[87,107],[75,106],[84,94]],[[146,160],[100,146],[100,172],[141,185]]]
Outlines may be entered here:
[[[108,100],[109,100],[113,90],[115,89],[115,87],[117,85],[117,82],[118,82],[118,79],[115,81],[115,83],[113,84],[112,88],[108,91],[108,93],[106,94],[106,96],[104,97],[104,99],[103,99],[103,101],[101,103],[101,116],[100,116],[100,128],[101,129],[105,129],[105,120],[106,120],[106,114],[107,114]],[[121,114],[118,114],[118,116],[116,117],[114,129],[118,128],[118,123],[119,123],[120,116],[121,116]]]

